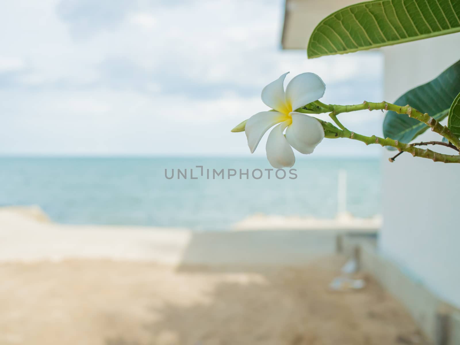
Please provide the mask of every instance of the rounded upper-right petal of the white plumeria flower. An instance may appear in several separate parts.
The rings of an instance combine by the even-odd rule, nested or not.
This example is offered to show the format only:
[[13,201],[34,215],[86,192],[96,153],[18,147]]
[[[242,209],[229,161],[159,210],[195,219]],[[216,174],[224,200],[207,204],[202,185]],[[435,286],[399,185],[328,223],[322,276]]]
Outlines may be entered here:
[[325,90],[326,85],[316,74],[302,73],[286,86],[286,103],[291,104],[292,110],[295,110],[322,98]]

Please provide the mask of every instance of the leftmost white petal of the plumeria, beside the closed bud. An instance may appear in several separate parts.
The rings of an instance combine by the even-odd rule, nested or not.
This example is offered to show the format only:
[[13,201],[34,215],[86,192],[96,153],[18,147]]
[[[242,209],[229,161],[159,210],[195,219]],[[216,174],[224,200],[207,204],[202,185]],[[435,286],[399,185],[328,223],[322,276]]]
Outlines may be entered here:
[[278,113],[277,111],[261,111],[251,116],[246,121],[244,132],[246,133],[247,145],[251,153],[255,151],[259,145],[260,139],[264,136],[270,127],[284,121],[286,115]]

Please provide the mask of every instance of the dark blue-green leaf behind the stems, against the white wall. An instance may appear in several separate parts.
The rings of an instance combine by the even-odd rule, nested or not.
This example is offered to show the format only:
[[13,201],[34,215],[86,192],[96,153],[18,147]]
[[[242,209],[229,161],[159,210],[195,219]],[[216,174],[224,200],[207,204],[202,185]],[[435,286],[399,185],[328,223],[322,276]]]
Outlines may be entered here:
[[[404,93],[394,104],[411,107],[428,113],[437,121],[449,114],[450,105],[460,91],[460,60],[438,75],[432,81]],[[434,115],[433,115],[434,114]],[[385,138],[408,143],[429,127],[407,115],[388,111],[383,121]]]

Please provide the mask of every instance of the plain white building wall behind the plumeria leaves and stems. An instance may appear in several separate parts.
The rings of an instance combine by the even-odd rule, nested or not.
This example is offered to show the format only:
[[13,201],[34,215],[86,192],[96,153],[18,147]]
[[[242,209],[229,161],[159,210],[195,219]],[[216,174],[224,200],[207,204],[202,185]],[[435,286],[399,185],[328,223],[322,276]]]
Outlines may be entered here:
[[[459,60],[460,34],[382,50],[385,100],[392,102]],[[417,141],[420,138],[441,137],[428,131]],[[433,293],[460,308],[460,166],[410,154],[390,163],[388,158],[394,154],[385,150],[382,162],[380,250]]]

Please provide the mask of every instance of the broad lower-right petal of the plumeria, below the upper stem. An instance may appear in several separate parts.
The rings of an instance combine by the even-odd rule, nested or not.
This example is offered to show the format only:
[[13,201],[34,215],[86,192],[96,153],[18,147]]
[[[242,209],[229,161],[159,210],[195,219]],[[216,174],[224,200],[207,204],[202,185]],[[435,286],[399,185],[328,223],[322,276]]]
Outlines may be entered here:
[[291,146],[308,155],[324,138],[321,123],[307,114],[292,112],[292,124],[286,130],[286,139]]

